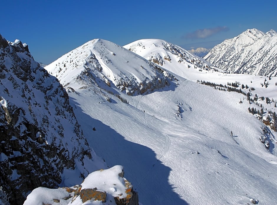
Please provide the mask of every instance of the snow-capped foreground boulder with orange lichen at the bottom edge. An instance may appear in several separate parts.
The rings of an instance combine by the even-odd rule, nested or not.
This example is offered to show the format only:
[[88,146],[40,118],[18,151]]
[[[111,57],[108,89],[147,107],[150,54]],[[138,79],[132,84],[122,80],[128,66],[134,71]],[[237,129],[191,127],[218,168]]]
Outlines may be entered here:
[[123,167],[114,166],[90,173],[83,183],[72,187],[47,189],[38,187],[28,196],[24,205],[33,204],[106,204],[138,205],[139,199],[131,183],[123,177]]

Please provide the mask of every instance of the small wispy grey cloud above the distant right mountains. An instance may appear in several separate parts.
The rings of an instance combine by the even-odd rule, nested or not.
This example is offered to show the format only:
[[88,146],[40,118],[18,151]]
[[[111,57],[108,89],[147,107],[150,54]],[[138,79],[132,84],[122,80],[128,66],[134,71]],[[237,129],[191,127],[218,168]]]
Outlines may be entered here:
[[219,27],[215,27],[215,28],[210,28],[210,29],[198,29],[192,33],[188,33],[184,36],[182,36],[182,38],[185,39],[205,39],[207,37],[210,37],[214,34],[217,34],[219,32],[222,31],[229,31],[229,28],[226,26],[219,26]]

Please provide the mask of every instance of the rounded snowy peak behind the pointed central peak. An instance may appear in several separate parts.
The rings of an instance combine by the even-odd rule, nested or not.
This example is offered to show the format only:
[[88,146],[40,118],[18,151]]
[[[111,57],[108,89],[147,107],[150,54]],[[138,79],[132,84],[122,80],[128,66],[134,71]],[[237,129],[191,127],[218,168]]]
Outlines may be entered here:
[[124,48],[185,78],[192,72],[197,74],[215,70],[224,72],[187,50],[160,39],[141,39],[125,45]]

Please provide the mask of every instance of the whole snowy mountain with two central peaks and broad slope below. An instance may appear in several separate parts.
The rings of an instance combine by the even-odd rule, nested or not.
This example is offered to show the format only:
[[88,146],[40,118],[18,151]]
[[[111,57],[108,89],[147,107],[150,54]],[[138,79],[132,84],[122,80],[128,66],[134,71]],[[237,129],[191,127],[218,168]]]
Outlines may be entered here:
[[[269,109],[276,108],[273,99],[263,98],[277,99],[272,92],[277,77],[216,72],[205,60],[162,40],[145,39],[125,47],[142,57],[111,42],[93,40],[46,70],[66,88],[85,138],[91,146],[97,144],[98,156],[109,166],[124,166],[140,203],[275,204],[276,132],[263,119]],[[94,61],[87,63],[89,59]],[[67,67],[72,61],[73,66]],[[132,66],[126,67],[130,62]],[[144,75],[137,69],[142,62]],[[137,89],[132,94],[116,86],[117,73],[125,73],[126,78],[121,75],[125,81],[132,78],[128,73],[136,73],[128,87],[132,90],[145,77],[150,79],[148,74],[155,74],[157,68],[169,82],[164,87],[149,86],[146,92]],[[104,70],[111,70],[110,76]],[[218,86],[200,85],[197,80]],[[257,94],[257,100],[225,92],[224,85],[231,82],[236,82],[238,91],[251,88],[249,97]],[[262,87],[262,82],[268,85]],[[260,105],[262,120],[248,111],[249,107],[261,109]],[[97,137],[90,136],[92,130]]]

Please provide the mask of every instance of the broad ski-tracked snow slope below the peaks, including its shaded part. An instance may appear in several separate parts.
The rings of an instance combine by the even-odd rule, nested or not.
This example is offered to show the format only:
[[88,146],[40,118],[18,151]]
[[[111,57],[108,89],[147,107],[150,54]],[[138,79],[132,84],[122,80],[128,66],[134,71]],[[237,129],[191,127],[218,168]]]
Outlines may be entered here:
[[[159,55],[162,58],[156,62],[163,62],[164,68],[170,65],[168,70],[182,77],[177,77],[178,84],[148,95],[128,96],[116,87],[106,92],[95,85],[82,89],[73,75],[72,79],[58,76],[65,87],[71,87],[67,90],[76,118],[88,142],[98,145],[95,152],[109,166],[124,166],[126,178],[144,205],[251,204],[251,199],[276,204],[276,147],[272,144],[268,151],[260,142],[263,123],[248,113],[247,100],[239,103],[244,95],[183,78],[220,81],[224,76],[222,81],[233,82],[241,76],[214,72],[203,61],[198,65],[210,66],[208,70],[188,68],[193,64],[186,57],[179,63],[182,67],[174,68],[172,56],[171,65]],[[54,68],[46,69],[53,72]],[[258,87],[264,79],[248,76],[244,80],[249,86],[253,80]],[[83,80],[83,84],[88,83]],[[271,83],[274,90],[273,86]],[[120,94],[129,104],[110,93]],[[251,106],[258,108],[254,103]],[[93,128],[98,137],[89,137]]]

